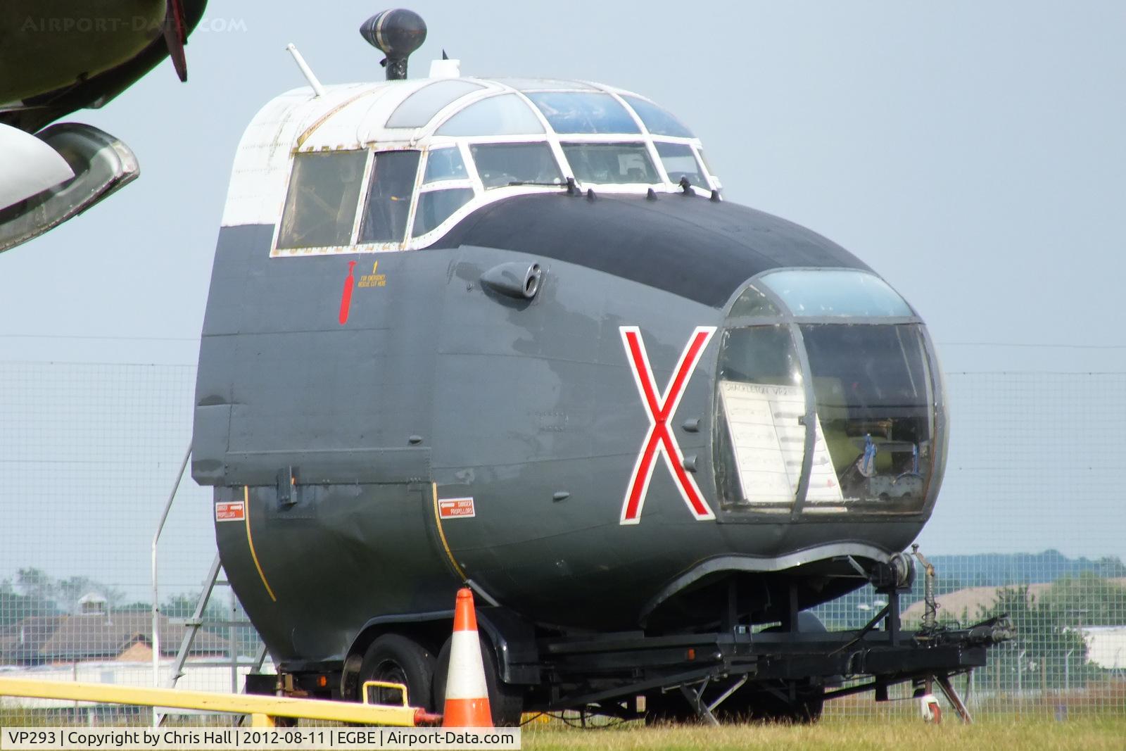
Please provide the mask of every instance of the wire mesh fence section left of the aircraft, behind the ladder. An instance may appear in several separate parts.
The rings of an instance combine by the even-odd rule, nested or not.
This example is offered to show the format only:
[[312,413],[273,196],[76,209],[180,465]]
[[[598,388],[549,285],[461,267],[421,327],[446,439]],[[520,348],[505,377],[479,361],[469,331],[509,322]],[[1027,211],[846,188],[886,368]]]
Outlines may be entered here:
[[[258,638],[227,588],[200,602],[216,553],[211,492],[187,476],[159,542],[152,613],[153,536],[194,387],[188,366],[0,363],[0,676],[241,688]],[[150,719],[26,698],[0,698],[0,713]]]

